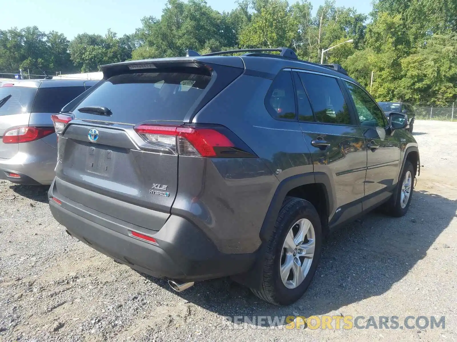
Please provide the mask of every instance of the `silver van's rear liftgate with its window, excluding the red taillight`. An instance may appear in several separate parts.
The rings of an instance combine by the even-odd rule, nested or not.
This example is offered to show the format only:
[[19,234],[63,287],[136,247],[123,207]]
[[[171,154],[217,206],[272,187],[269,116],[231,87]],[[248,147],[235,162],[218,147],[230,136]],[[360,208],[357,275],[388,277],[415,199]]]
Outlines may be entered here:
[[[0,137],[11,128],[27,126],[37,88],[9,86],[0,87]],[[0,159],[10,159],[19,150],[18,144],[0,141]]]

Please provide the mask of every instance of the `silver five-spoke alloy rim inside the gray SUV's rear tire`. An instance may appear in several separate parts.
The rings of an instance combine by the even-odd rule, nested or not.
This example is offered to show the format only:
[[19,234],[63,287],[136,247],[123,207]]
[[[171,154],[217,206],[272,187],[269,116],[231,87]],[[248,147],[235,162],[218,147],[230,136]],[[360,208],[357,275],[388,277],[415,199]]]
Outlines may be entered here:
[[280,274],[288,289],[295,289],[308,274],[314,257],[314,227],[307,218],[292,225],[282,246]]

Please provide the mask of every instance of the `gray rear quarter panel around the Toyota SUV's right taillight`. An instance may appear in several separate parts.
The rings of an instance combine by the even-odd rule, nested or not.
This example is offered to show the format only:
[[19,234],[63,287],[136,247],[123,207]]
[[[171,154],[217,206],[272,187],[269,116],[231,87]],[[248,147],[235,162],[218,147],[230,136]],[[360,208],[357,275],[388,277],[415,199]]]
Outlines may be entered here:
[[[190,175],[181,173],[190,166],[180,157],[178,196],[172,213],[183,208],[182,191],[198,194],[196,210],[206,217],[206,221],[199,218],[198,224],[208,236],[214,234],[216,241],[224,241],[218,247],[225,253],[254,252],[260,246],[260,228],[279,182],[313,171],[298,122],[273,119],[265,108],[271,82],[242,75],[193,119],[195,123],[222,124],[234,132],[259,157],[254,167],[247,166],[249,159],[213,159],[202,162],[198,172]],[[247,172],[246,168],[252,170]],[[183,185],[183,180],[192,186]]]

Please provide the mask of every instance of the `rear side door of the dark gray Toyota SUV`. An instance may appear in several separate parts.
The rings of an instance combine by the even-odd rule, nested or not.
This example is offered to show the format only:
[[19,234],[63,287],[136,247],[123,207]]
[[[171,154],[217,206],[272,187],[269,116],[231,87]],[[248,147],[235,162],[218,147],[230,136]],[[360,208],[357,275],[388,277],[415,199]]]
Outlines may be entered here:
[[337,225],[362,210],[365,139],[349,110],[339,78],[308,72],[298,72],[295,77],[297,87],[304,86],[303,95],[298,88],[298,119],[313,157],[314,172],[330,178],[334,205],[329,224]]

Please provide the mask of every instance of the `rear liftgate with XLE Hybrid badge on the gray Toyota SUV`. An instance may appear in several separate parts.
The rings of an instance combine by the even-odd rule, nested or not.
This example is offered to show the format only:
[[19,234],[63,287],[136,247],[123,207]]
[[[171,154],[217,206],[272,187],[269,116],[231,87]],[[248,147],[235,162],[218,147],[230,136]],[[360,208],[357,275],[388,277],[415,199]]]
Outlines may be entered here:
[[[230,74],[236,78],[240,71]],[[154,229],[148,222],[151,216],[133,208],[170,212],[178,184],[178,155],[176,138],[163,133],[183,124],[186,114],[215,86],[211,79],[206,66],[127,70],[93,89],[74,104],[74,119],[59,137],[58,192],[84,206]],[[159,125],[160,132],[140,136],[134,130],[140,124]],[[74,191],[74,186],[87,191]]]

